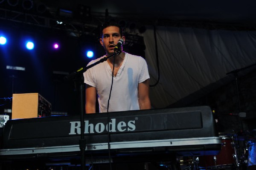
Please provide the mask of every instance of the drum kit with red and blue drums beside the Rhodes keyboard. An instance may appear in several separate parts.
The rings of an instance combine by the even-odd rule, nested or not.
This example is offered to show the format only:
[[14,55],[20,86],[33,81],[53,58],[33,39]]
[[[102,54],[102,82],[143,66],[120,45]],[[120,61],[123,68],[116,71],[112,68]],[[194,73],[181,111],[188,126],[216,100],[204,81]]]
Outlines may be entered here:
[[218,155],[182,157],[184,170],[256,170],[256,139],[252,136],[219,133]]

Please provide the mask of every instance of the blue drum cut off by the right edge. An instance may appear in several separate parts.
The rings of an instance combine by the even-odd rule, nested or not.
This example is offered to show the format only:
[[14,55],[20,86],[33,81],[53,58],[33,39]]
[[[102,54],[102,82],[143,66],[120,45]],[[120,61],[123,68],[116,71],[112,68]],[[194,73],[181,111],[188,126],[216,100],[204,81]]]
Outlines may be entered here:
[[256,170],[256,140],[248,141],[247,146],[248,146],[247,170]]

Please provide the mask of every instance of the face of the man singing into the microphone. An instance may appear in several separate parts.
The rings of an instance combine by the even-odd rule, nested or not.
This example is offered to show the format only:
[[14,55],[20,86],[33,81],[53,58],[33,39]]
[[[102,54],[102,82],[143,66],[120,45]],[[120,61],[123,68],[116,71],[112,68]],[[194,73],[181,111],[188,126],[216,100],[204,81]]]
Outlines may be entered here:
[[102,33],[103,36],[99,39],[99,41],[107,52],[107,55],[113,55],[117,42],[120,40],[120,38],[125,40],[125,37],[121,37],[119,27],[117,26],[109,26],[103,29]]

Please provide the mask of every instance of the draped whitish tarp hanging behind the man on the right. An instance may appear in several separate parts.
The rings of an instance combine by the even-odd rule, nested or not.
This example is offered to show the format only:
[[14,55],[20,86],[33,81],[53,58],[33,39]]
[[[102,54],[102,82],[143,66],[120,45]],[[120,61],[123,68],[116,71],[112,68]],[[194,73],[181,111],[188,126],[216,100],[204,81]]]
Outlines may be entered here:
[[[143,36],[152,85],[158,78],[153,26]],[[157,26],[156,37],[160,80],[150,88],[154,108],[168,107],[256,63],[256,31]]]

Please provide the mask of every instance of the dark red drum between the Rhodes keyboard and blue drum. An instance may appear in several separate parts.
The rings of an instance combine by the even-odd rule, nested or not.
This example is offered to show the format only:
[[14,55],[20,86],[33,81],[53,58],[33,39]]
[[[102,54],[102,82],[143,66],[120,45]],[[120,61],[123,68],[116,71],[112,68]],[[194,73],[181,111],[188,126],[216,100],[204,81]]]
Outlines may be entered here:
[[198,169],[219,169],[233,167],[236,164],[236,149],[233,136],[220,136],[221,151],[218,155],[199,156]]

